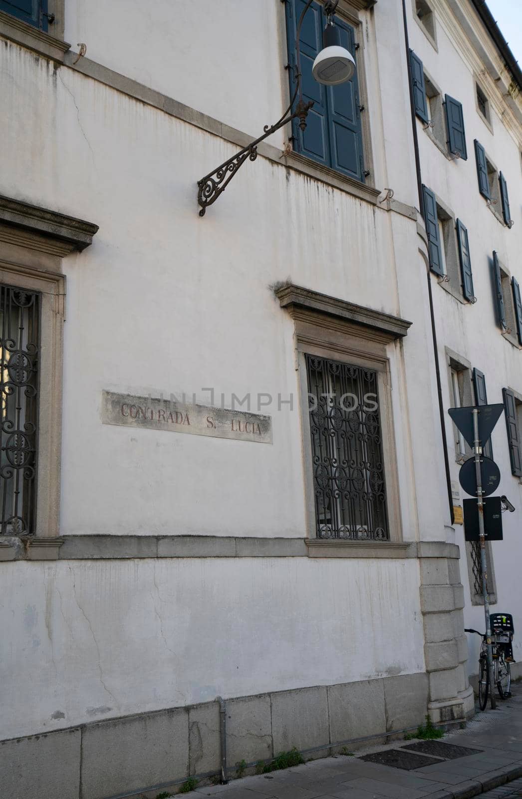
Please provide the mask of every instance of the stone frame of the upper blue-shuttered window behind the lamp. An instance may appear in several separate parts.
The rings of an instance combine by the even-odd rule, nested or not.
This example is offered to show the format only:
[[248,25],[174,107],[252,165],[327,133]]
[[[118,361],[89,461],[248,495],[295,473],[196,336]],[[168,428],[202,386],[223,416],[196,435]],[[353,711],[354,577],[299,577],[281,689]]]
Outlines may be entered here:
[[[318,0],[321,5],[324,5],[326,0]],[[358,88],[359,88],[359,101],[362,108],[365,110],[361,113],[361,133],[362,133],[362,157],[364,169],[369,174],[366,176],[366,181],[355,180],[354,177],[344,175],[331,169],[328,166],[323,166],[313,161],[311,158],[306,157],[302,153],[295,153],[293,150],[287,156],[286,163],[288,166],[299,169],[305,166],[306,173],[311,174],[312,177],[317,177],[318,180],[330,182],[330,179],[339,181],[341,185],[346,185],[346,189],[353,192],[356,196],[362,197],[365,200],[377,201],[380,194],[378,189],[375,188],[375,169],[374,169],[374,153],[372,148],[372,137],[370,130],[370,113],[368,112],[369,92],[368,84],[366,81],[366,68],[365,68],[365,50],[368,46],[366,38],[363,36],[362,25],[363,20],[359,16],[359,11],[366,10],[374,6],[377,0],[339,0],[335,14],[343,18],[350,26],[354,28],[354,41],[355,41],[355,65],[357,70]],[[283,8],[284,11],[284,8]],[[283,18],[283,40],[286,41],[286,21]],[[285,51],[286,57],[286,51]],[[286,61],[285,61],[286,63]],[[288,81],[287,81],[288,84]],[[287,96],[290,99],[290,86],[287,85]],[[288,138],[291,141],[291,130]],[[303,170],[305,171],[305,170]]]

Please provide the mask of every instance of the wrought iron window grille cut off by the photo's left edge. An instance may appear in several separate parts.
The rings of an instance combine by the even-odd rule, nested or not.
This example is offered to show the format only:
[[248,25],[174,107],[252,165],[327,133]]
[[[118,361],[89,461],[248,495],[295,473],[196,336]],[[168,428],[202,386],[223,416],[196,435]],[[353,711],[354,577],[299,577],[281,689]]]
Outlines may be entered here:
[[0,534],[34,535],[40,295],[0,286]]

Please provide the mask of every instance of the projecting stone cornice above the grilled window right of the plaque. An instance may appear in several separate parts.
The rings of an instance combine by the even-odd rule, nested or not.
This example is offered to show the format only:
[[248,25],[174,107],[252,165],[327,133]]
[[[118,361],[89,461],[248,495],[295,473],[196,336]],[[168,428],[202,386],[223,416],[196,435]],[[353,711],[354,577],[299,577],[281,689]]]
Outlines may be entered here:
[[374,308],[364,308],[362,305],[339,300],[326,294],[314,292],[310,288],[284,284],[275,289],[275,295],[282,308],[287,308],[291,316],[299,316],[303,312],[326,314],[343,322],[350,322],[371,328],[383,340],[391,341],[402,338],[412,324],[400,316],[376,311]]

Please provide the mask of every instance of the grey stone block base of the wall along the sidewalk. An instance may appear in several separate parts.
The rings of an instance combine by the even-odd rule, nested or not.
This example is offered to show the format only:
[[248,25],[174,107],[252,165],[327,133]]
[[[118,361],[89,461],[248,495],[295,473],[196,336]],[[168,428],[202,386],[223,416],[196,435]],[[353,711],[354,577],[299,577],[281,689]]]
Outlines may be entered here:
[[[385,743],[424,722],[428,691],[421,673],[227,699],[228,773],[294,746],[308,759]],[[0,741],[0,785],[10,799],[156,797],[219,774],[220,758],[209,702]]]

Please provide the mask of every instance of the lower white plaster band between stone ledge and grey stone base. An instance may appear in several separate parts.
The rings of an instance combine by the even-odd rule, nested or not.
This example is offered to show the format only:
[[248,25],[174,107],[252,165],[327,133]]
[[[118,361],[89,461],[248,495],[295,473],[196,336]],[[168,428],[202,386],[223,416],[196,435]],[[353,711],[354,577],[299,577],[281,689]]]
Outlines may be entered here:
[[422,671],[418,574],[415,560],[10,564],[0,738]]

